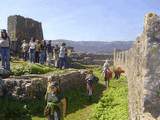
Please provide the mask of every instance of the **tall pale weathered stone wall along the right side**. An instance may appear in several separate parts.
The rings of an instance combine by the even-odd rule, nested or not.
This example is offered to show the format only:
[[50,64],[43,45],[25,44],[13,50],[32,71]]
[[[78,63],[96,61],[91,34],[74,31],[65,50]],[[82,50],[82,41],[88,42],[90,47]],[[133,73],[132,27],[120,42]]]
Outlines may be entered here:
[[128,78],[130,120],[160,120],[160,17],[145,16],[143,33],[128,51],[114,52]]

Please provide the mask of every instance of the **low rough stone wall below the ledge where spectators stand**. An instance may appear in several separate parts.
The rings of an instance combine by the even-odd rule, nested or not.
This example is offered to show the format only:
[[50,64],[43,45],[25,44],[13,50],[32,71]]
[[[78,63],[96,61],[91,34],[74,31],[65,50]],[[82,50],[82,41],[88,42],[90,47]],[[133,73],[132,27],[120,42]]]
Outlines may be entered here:
[[62,75],[29,75],[21,77],[6,78],[0,81],[0,96],[7,95],[18,99],[34,99],[44,97],[47,89],[48,78],[53,78],[60,84],[62,91],[85,85],[84,74],[80,71],[70,71]]

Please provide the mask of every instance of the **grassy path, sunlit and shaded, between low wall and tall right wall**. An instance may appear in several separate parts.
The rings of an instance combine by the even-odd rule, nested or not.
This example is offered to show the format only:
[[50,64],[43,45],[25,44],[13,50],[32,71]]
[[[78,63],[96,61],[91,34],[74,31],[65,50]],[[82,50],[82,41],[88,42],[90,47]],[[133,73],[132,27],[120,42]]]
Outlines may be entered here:
[[[100,78],[96,86],[93,102],[87,101],[85,88],[66,91],[69,99],[68,115],[65,120],[128,120],[127,82],[124,77],[112,80],[109,90],[104,91],[100,69],[94,69]],[[103,95],[102,95],[103,94]],[[44,120],[33,117],[33,120]]]

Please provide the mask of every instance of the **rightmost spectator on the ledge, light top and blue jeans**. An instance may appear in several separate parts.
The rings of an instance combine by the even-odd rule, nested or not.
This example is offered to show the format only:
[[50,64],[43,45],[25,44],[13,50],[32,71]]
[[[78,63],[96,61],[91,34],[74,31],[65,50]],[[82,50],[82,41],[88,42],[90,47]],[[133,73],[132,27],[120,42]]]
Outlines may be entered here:
[[59,52],[60,69],[66,68],[66,44],[62,43]]

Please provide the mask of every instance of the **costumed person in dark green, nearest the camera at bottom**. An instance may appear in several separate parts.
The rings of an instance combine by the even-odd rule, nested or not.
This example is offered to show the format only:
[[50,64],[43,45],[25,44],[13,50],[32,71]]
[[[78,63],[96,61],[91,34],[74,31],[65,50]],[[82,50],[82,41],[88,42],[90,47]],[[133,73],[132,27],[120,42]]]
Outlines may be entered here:
[[50,92],[46,93],[47,105],[44,114],[48,120],[63,120],[67,110],[67,100],[60,91],[57,82],[50,83]]

